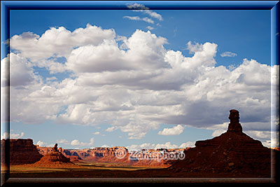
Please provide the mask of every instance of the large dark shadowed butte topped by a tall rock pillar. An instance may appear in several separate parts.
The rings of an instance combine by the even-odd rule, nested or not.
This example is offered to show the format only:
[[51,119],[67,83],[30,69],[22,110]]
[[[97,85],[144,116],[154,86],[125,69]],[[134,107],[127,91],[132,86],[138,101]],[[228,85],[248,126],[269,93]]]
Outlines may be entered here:
[[242,132],[239,112],[230,110],[228,131],[213,139],[196,141],[184,151],[184,160],[169,167],[174,172],[232,172],[270,176],[271,150]]

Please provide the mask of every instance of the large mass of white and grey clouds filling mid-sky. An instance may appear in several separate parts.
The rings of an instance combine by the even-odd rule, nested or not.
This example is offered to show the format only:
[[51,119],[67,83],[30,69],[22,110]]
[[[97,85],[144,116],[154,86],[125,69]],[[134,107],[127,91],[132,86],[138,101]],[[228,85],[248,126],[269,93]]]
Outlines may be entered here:
[[[242,124],[262,124],[261,130],[258,125],[248,125],[246,130],[270,130],[271,119],[277,117],[271,113],[275,109],[271,93],[279,97],[279,76],[272,73],[279,66],[244,59],[230,70],[216,66],[216,43],[188,42],[190,57],[168,50],[166,43],[167,39],[150,31],[137,29],[126,38],[116,36],[113,29],[92,25],[73,32],[58,27],[41,36],[15,35],[10,40],[14,50],[10,53],[10,120],[106,123],[111,124],[108,132],[121,130],[130,139],[141,139],[162,123],[218,129],[219,124],[228,123],[228,112],[234,108],[240,111]],[[34,72],[36,67],[52,72],[52,77],[69,73],[47,81]]]

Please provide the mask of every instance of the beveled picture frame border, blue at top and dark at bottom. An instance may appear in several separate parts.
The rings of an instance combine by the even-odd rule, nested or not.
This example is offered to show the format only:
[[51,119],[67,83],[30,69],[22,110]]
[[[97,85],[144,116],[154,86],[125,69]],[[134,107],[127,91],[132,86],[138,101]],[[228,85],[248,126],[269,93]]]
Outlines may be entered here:
[[[10,53],[10,48],[3,41],[10,37],[10,10],[128,10],[127,4],[144,4],[151,10],[270,10],[271,13],[271,64],[279,64],[279,1],[1,1],[1,59]],[[7,67],[9,80],[10,68]],[[10,85],[9,81],[6,85]],[[6,94],[10,98],[9,90]],[[278,99],[276,99],[278,101]],[[276,106],[275,111],[279,111]],[[10,130],[10,104],[5,104],[5,130]],[[2,119],[1,119],[2,121]],[[1,128],[2,129],[2,128]],[[9,138],[8,138],[9,139]],[[6,145],[9,148],[9,144]],[[6,149],[7,150],[7,149]],[[6,151],[6,162],[9,167],[9,151]],[[2,158],[1,158],[2,159]],[[278,163],[279,161],[276,160]],[[3,176],[1,185],[36,184],[36,183],[276,183],[278,173],[272,178],[231,179],[231,178],[10,178],[9,169]],[[3,182],[3,183],[2,183]]]

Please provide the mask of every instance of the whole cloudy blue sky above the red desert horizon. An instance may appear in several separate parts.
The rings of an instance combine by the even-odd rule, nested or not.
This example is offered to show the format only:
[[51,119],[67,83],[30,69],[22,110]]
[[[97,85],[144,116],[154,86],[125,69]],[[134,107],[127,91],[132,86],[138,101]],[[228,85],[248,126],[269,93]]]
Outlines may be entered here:
[[[246,134],[279,146],[270,11],[127,8],[10,11],[1,58],[1,71],[10,62],[10,138],[185,148],[225,132],[237,109]],[[3,72],[2,97],[5,81]]]

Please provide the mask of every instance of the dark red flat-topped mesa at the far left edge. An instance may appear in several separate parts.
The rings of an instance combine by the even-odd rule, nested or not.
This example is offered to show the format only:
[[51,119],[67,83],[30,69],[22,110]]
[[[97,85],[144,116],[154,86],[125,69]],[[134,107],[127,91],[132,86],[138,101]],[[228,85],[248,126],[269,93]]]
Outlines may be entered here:
[[[1,148],[4,147],[6,141],[10,141],[10,165],[31,164],[43,157],[38,153],[32,139],[2,139]],[[5,151],[1,150],[1,154]]]

